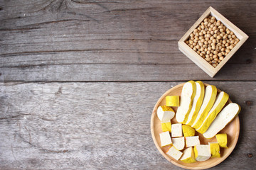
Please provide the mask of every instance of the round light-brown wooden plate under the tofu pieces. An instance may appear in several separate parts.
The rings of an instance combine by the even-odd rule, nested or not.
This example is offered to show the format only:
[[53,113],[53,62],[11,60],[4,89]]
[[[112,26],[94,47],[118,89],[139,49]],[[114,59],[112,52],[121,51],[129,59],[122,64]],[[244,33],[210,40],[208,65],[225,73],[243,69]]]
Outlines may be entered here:
[[[208,84],[205,84],[207,86]],[[183,84],[179,84],[177,86],[174,86],[173,88],[166,91],[166,93],[159,98],[156,105],[154,106],[153,113],[151,115],[151,135],[154,140],[154,143],[159,150],[159,152],[171,163],[175,164],[176,166],[180,166],[184,169],[208,169],[210,167],[213,167],[217,164],[220,164],[220,162],[223,162],[228,155],[233,151],[235,148],[236,143],[238,142],[238,136],[239,136],[239,130],[240,130],[240,123],[238,116],[230,123],[228,124],[223,130],[221,130],[219,133],[227,133],[228,135],[228,148],[222,148],[220,147],[220,158],[210,158],[205,162],[195,162],[195,163],[184,163],[181,161],[176,161],[176,159],[170,157],[168,154],[166,154],[167,149],[169,149],[170,146],[161,147],[160,137],[159,133],[162,132],[161,130],[161,122],[159,118],[157,118],[156,110],[159,106],[164,106],[166,103],[165,97],[166,96],[181,96]],[[220,90],[218,89],[218,93],[220,93]],[[232,103],[230,99],[228,99],[228,103]],[[172,107],[176,113],[177,108]],[[171,123],[178,123],[176,118],[174,117],[171,120]],[[199,135],[199,140],[201,144],[208,144],[208,142],[216,142],[216,138],[213,137],[211,139],[206,139],[203,137],[201,133],[196,132],[196,135]],[[182,150],[183,151],[183,150]]]

